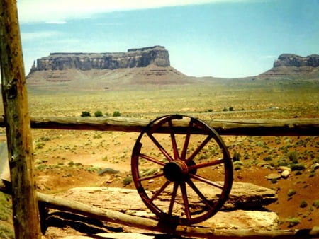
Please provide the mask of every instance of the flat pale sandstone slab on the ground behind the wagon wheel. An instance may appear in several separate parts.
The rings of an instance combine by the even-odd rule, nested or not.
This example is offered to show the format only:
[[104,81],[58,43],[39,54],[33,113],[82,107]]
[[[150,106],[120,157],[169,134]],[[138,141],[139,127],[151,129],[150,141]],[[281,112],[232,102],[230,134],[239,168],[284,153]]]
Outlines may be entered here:
[[[66,192],[55,194],[55,196],[82,202],[101,209],[110,209],[132,216],[142,216],[157,220],[155,215],[142,202],[137,190],[116,187],[76,187]],[[191,198],[191,195],[189,197]],[[225,209],[228,209],[228,211],[218,211],[213,217],[198,223],[198,226],[276,229],[279,225],[279,217],[276,213],[238,209],[238,207],[247,209],[249,205],[254,208],[255,204],[260,206],[269,204],[270,201],[276,201],[276,192],[274,190],[250,183],[234,182],[230,199],[225,203]],[[163,201],[163,204],[168,204],[167,200]],[[229,211],[229,209],[233,211]]]

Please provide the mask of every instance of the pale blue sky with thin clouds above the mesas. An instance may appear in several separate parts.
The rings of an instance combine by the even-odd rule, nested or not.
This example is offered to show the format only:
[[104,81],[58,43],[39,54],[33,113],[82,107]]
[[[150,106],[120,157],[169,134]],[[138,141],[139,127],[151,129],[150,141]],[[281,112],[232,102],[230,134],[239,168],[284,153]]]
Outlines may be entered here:
[[51,52],[162,45],[189,76],[237,78],[319,54],[319,0],[18,0],[26,74]]

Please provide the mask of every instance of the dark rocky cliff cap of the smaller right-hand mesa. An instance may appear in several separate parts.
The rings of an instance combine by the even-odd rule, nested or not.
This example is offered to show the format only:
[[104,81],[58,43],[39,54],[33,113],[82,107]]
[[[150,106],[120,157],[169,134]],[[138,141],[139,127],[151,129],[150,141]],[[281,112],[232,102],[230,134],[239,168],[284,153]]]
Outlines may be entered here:
[[274,62],[274,67],[279,66],[319,66],[319,55],[311,54],[308,57],[300,57],[296,54],[281,54],[278,59]]

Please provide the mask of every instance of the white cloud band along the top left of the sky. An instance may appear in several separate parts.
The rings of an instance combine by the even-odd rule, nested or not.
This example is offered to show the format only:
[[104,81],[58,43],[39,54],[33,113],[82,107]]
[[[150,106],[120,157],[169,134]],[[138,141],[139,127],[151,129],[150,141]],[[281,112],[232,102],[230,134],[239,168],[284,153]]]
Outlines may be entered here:
[[87,18],[96,13],[225,1],[247,0],[20,0],[18,16],[20,23],[64,23],[67,19]]

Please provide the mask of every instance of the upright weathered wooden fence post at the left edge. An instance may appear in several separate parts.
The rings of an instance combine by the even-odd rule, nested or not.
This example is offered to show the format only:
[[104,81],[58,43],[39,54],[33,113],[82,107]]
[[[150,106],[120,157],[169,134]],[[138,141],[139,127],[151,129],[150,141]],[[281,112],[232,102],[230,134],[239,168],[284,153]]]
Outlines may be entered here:
[[41,238],[16,0],[0,1],[0,65],[16,238]]

